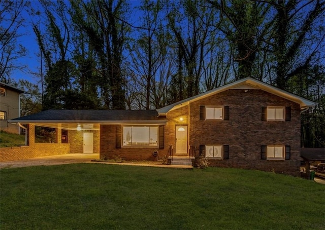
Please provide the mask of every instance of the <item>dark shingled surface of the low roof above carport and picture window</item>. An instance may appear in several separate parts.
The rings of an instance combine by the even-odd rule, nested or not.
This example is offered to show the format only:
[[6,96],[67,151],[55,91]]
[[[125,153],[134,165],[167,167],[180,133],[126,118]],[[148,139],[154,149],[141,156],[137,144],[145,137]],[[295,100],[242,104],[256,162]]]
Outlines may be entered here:
[[156,110],[45,110],[21,118],[10,120],[15,123],[116,123],[116,122],[154,122],[158,118]]

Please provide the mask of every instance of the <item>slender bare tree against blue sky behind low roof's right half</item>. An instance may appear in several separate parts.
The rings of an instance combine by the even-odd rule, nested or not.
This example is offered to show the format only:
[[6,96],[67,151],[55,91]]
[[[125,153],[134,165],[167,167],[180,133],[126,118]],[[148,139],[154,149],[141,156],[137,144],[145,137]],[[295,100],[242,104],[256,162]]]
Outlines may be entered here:
[[[163,31],[160,14],[163,9],[161,1],[142,1],[143,12],[139,37],[131,49],[134,85],[138,87],[137,95],[144,100],[143,108],[159,108],[166,105],[166,91],[173,73],[173,57],[169,41],[171,35]],[[140,99],[141,100],[141,99]],[[140,107],[141,108],[141,107]]]

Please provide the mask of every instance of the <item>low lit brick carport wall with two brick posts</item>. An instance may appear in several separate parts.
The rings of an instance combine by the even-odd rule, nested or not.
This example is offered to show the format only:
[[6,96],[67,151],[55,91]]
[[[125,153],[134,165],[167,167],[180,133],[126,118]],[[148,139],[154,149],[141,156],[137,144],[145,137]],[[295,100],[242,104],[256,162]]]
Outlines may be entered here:
[[5,147],[0,149],[1,161],[14,161],[36,157],[46,157],[61,154],[69,154],[70,144],[62,144],[61,130],[58,129],[58,143],[35,143],[35,126],[28,126],[29,145],[21,147]]

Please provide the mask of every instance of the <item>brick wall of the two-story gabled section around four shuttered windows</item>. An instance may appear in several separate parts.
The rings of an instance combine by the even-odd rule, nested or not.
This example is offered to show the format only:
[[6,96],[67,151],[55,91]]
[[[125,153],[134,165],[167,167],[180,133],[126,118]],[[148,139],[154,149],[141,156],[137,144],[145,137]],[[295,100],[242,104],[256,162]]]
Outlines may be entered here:
[[[200,105],[230,107],[229,121],[200,121]],[[291,106],[291,121],[262,121],[262,106]],[[211,166],[257,169],[299,175],[300,107],[262,90],[228,90],[190,104],[190,145],[229,145],[228,160]],[[290,145],[291,159],[261,160],[262,145]]]

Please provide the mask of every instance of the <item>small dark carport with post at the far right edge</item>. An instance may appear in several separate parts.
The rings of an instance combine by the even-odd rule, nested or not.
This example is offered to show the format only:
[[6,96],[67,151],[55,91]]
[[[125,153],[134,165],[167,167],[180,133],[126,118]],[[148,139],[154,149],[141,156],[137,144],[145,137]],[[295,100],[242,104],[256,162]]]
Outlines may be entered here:
[[307,179],[310,179],[310,164],[325,162],[325,148],[301,148],[300,157],[306,163]]

